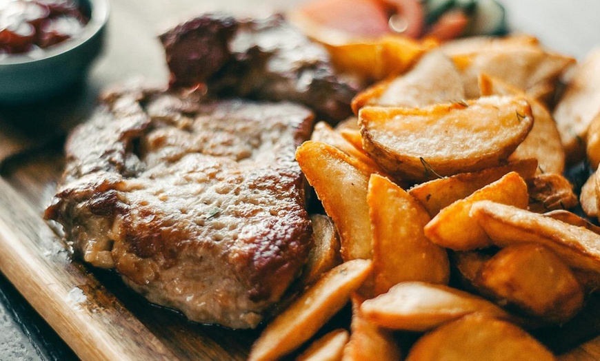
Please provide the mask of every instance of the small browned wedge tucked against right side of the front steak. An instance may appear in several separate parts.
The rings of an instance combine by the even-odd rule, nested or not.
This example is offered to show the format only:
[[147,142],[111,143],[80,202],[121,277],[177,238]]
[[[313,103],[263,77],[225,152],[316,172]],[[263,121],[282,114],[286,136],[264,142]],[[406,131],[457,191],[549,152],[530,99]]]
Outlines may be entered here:
[[323,214],[312,214],[310,220],[314,246],[310,249],[308,262],[304,266],[300,280],[302,285],[312,285],[323,274],[341,264],[339,236],[333,220]]

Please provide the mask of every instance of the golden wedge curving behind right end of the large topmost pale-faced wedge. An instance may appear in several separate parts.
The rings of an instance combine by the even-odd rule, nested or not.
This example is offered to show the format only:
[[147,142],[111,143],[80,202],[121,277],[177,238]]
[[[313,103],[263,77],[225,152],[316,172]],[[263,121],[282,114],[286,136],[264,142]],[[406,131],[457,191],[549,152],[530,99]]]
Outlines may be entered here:
[[[482,96],[525,95],[518,87],[487,74],[479,74],[479,90]],[[531,132],[511,157],[536,158],[542,173],[562,174],[565,170],[565,151],[557,124],[542,103],[529,96],[526,96],[526,99],[535,121]]]

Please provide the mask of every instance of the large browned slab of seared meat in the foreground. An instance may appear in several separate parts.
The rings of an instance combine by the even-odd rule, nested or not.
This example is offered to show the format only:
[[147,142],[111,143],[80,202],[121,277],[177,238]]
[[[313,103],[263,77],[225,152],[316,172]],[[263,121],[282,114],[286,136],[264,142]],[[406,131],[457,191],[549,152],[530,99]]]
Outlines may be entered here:
[[110,92],[66,145],[46,218],[78,256],[198,322],[256,327],[311,247],[292,103]]

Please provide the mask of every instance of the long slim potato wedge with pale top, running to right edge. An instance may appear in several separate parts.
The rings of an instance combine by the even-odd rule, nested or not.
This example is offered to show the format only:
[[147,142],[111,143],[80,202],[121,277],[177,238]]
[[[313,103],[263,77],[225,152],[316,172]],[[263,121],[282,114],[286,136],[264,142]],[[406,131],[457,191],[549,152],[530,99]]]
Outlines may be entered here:
[[589,229],[489,200],[472,205],[471,216],[499,247],[539,243],[570,267],[600,273],[600,235]]

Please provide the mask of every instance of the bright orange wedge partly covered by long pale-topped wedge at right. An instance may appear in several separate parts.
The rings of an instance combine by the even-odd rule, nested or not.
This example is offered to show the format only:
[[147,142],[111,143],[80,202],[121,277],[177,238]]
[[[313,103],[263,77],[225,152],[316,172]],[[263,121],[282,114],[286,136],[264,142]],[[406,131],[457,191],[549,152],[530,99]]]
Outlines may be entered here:
[[526,208],[529,200],[527,185],[519,174],[515,172],[506,174],[467,198],[457,200],[442,209],[423,229],[427,238],[436,245],[454,251],[469,251],[492,245],[492,241],[483,228],[479,227],[477,220],[469,216],[471,206],[479,200],[493,200]]

